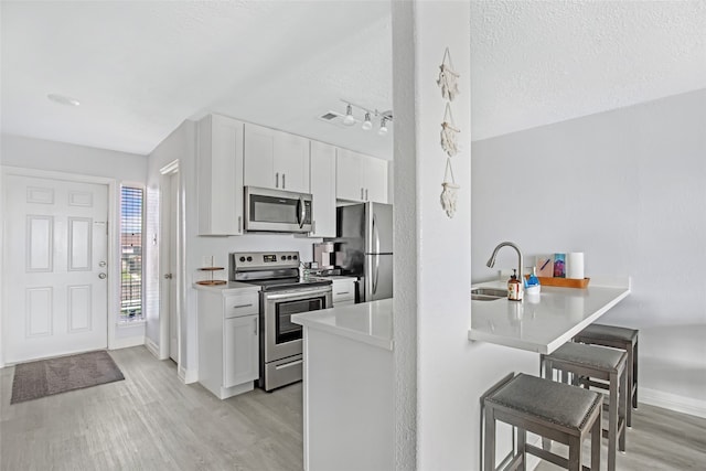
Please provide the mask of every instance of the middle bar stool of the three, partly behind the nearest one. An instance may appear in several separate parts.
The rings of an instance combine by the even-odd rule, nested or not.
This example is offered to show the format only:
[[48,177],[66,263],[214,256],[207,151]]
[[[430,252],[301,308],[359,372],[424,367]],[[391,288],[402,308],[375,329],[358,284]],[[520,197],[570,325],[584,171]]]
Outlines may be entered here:
[[625,409],[628,408],[628,382],[625,374],[628,353],[582,343],[565,343],[549,355],[542,355],[539,371],[550,378],[553,371],[592,377],[608,382],[608,470],[616,469],[616,448],[625,451]]

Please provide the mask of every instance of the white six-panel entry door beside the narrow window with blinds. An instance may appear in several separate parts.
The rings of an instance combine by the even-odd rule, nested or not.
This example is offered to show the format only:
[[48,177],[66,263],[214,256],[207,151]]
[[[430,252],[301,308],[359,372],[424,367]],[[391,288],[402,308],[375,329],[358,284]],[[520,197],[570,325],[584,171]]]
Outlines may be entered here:
[[108,186],[6,180],[8,363],[105,349]]

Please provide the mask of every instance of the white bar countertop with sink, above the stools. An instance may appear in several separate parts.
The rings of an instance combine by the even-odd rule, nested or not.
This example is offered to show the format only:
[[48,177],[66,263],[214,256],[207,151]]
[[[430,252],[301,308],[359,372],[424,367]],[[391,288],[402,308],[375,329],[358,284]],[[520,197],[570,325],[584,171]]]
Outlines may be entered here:
[[[472,288],[506,288],[502,281]],[[630,295],[630,277],[595,277],[588,288],[543,286],[522,302],[471,301],[470,340],[552,353]]]

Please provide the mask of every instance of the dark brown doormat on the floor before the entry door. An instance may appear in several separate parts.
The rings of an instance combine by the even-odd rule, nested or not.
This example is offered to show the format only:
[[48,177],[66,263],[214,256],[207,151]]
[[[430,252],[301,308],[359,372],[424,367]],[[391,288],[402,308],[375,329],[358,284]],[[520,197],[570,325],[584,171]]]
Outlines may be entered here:
[[10,404],[125,379],[108,352],[22,363],[14,367]]

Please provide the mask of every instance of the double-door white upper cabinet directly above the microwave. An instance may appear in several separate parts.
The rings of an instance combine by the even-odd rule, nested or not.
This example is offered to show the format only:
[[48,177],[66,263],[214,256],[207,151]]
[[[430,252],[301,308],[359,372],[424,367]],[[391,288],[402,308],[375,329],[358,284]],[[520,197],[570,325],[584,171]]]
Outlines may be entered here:
[[245,185],[309,192],[309,139],[245,125]]

